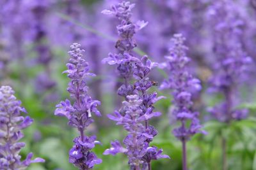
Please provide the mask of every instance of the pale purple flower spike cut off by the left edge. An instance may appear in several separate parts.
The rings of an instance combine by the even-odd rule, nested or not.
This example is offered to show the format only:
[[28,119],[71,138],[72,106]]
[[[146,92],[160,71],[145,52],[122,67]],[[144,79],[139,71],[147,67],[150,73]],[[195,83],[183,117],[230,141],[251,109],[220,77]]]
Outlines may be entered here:
[[20,149],[25,143],[19,142],[23,138],[21,132],[32,124],[30,117],[22,117],[26,113],[20,107],[20,101],[14,96],[14,91],[9,86],[0,87],[0,167],[1,169],[26,169],[31,163],[44,162],[44,159],[31,160],[33,153],[29,153],[25,160],[20,161]]

